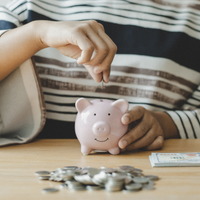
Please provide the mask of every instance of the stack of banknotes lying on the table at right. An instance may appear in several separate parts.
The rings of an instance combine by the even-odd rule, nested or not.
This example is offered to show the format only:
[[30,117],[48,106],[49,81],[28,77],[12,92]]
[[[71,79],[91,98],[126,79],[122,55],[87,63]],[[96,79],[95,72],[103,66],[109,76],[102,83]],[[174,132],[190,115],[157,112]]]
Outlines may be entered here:
[[152,167],[196,167],[200,166],[200,153],[151,153]]

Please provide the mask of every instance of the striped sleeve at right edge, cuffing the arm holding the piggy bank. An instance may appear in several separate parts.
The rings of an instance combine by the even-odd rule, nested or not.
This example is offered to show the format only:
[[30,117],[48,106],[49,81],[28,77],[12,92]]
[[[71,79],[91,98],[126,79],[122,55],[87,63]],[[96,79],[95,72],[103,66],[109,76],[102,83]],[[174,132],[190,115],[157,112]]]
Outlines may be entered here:
[[182,106],[182,110],[167,111],[182,139],[200,138],[200,86]]

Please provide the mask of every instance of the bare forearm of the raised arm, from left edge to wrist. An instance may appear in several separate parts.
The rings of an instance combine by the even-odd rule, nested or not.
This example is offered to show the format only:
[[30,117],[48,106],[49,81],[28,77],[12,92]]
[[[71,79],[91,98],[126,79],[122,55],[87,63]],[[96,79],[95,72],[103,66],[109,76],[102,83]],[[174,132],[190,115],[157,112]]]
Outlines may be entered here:
[[37,30],[38,23],[31,22],[9,30],[0,37],[0,81],[37,51],[44,48]]

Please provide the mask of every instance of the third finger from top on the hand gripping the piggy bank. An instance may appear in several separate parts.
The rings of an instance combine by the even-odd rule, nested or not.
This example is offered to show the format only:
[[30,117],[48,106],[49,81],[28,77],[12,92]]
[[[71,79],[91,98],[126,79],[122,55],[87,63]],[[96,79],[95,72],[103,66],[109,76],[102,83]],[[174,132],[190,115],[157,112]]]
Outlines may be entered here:
[[144,135],[143,137],[139,138],[135,142],[126,146],[126,150],[132,151],[135,149],[146,147],[150,145],[155,140],[155,138],[156,138],[156,135],[154,134],[154,130],[151,129],[146,133],[146,135]]

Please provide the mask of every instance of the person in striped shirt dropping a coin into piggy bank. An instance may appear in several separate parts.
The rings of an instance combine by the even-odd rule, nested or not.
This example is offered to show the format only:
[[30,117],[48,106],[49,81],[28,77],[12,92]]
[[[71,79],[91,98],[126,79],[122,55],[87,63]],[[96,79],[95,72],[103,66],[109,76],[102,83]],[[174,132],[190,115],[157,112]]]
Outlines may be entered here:
[[199,4],[15,0],[0,8],[0,80],[33,56],[47,108],[38,138],[75,138],[80,97],[129,102],[122,150],[199,138]]

